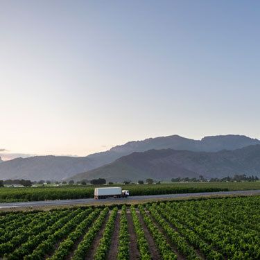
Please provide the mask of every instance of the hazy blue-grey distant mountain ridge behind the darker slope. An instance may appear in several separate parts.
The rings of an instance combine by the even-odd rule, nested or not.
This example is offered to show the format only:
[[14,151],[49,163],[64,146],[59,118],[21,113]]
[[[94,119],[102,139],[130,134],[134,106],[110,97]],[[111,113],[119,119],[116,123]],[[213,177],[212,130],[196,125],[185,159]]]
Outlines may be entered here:
[[94,153],[87,157],[68,156],[35,156],[16,158],[0,164],[0,180],[62,180],[77,173],[83,173],[110,164],[122,156],[134,152],[145,152],[155,149],[175,149],[190,151],[216,152],[219,150],[235,150],[245,146],[260,144],[258,139],[244,135],[220,135],[204,137],[201,140],[187,139],[179,135],[149,138],[143,141],[130,141],[110,150]]

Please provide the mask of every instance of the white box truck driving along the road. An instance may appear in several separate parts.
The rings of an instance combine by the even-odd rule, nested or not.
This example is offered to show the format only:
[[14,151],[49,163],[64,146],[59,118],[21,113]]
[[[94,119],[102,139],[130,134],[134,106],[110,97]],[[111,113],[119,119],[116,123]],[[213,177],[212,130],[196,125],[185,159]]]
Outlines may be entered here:
[[129,191],[121,187],[107,187],[107,188],[95,188],[94,198],[127,198],[129,196]]

